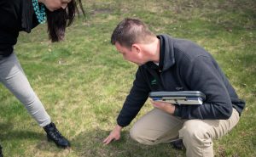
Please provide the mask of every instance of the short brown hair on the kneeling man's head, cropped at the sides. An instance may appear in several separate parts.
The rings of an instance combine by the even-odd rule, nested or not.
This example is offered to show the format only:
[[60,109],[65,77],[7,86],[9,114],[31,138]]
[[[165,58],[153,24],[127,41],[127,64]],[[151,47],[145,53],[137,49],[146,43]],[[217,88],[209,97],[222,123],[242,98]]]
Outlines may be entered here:
[[142,20],[125,18],[113,30],[111,43],[119,42],[125,48],[131,48],[134,43],[153,42],[155,35],[149,31],[148,26]]

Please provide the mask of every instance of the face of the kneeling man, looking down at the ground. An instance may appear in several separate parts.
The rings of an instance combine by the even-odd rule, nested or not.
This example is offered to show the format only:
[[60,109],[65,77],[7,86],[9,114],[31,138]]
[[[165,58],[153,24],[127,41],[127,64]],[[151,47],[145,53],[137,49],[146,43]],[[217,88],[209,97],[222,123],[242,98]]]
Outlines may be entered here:
[[114,46],[119,53],[123,54],[123,58],[125,60],[135,63],[139,66],[146,63],[145,61],[143,61],[142,52],[138,51],[137,48],[135,47],[132,47],[131,49],[125,48],[121,46],[119,42],[115,42]]

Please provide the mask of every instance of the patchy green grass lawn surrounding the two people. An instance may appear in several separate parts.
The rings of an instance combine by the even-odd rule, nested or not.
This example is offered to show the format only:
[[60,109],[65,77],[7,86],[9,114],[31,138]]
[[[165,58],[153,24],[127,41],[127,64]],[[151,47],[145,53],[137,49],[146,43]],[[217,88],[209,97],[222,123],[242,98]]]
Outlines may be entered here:
[[[216,140],[216,156],[256,156],[256,3],[254,0],[83,1],[86,17],[67,29],[65,42],[50,43],[46,25],[20,33],[15,47],[38,97],[72,149],[48,143],[44,131],[9,91],[0,86],[0,142],[5,156],[184,156],[169,144],[120,141],[102,145],[116,124],[137,65],[109,43],[125,17],[140,18],[156,34],[187,38],[217,59],[247,107],[228,135]],[[152,106],[145,104],[137,118]],[[136,119],[137,120],[137,119]],[[136,121],[135,120],[135,121]],[[134,121],[133,121],[134,122]],[[133,123],[132,122],[132,123]]]

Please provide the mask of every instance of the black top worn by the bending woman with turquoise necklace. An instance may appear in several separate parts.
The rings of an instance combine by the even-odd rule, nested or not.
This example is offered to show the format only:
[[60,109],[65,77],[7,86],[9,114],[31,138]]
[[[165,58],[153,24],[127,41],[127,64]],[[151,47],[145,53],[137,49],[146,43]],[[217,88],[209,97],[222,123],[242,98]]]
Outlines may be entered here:
[[29,33],[37,25],[32,0],[1,0],[0,57],[7,57],[13,52],[19,31]]

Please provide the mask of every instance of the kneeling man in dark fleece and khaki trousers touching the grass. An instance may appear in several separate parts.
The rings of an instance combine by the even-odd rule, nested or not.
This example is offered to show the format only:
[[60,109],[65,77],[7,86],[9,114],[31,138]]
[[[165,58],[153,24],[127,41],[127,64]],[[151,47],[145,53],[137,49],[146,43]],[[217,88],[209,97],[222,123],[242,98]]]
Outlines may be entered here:
[[168,35],[155,36],[141,20],[125,19],[111,42],[125,60],[139,67],[117,125],[103,143],[118,140],[121,129],[136,117],[156,91],[201,91],[201,105],[154,102],[154,109],[131,128],[131,138],[153,145],[182,139],[187,156],[213,157],[213,139],[236,126],[245,103],[210,53],[194,42]]

